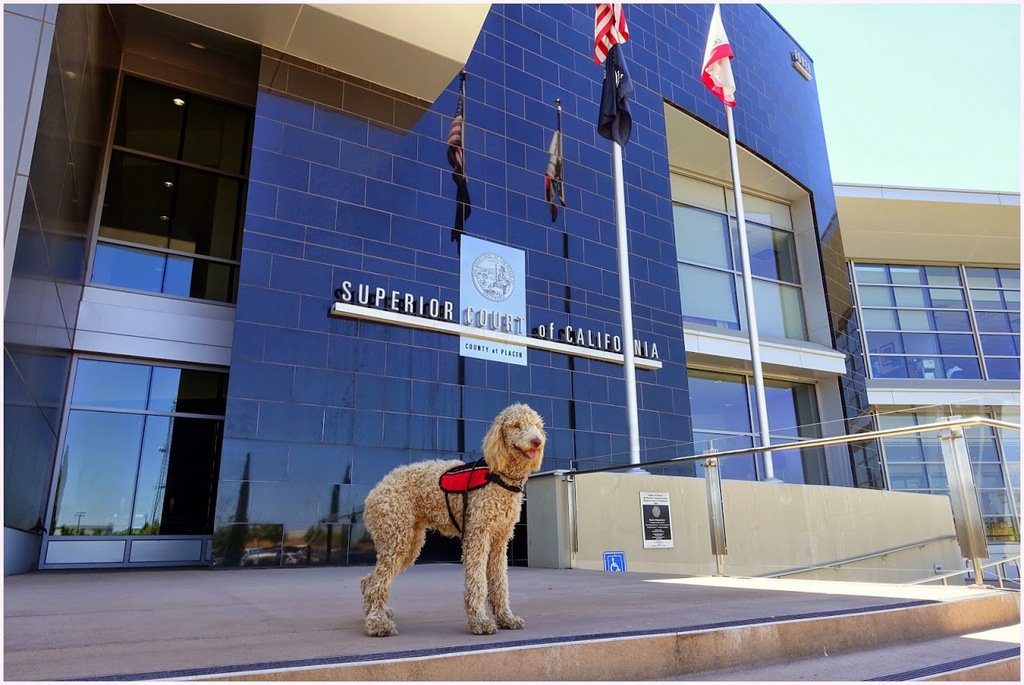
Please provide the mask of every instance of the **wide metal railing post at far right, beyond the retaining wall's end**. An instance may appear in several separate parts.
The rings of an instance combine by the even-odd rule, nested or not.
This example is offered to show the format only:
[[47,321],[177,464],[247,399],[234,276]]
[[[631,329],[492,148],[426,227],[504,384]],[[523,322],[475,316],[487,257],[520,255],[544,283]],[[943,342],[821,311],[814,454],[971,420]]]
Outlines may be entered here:
[[[950,417],[947,421],[958,421]],[[953,510],[953,525],[961,555],[974,565],[975,585],[984,585],[984,569],[981,560],[988,557],[988,542],[985,539],[985,522],[981,517],[978,490],[971,471],[971,459],[967,451],[964,429],[952,426],[939,431],[942,461],[949,481],[949,503]]]

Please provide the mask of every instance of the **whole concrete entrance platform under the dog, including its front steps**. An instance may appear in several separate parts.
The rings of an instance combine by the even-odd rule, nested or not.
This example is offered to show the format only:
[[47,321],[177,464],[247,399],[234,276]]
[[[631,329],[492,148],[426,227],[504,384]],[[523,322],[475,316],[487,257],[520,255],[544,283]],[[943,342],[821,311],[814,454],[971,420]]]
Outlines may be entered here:
[[989,588],[513,567],[525,629],[474,636],[462,567],[418,565],[392,593],[399,634],[371,638],[358,593],[368,570],[11,576],[4,677],[975,680],[965,669],[984,668],[984,680],[1019,680],[1020,596]]

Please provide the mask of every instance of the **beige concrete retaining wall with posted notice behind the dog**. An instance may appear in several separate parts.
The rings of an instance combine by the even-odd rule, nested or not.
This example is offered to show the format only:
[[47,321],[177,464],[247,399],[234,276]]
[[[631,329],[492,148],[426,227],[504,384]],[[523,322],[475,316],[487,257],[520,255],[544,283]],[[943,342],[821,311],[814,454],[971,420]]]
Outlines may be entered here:
[[[723,481],[722,490],[728,575],[776,573],[936,538],[944,539],[799,576],[905,583],[963,564],[945,497],[739,480]],[[642,491],[668,495],[671,548],[644,549]],[[526,495],[531,566],[603,569],[604,552],[621,551],[629,571],[717,572],[700,478],[594,473],[572,482],[552,473],[531,478]]]

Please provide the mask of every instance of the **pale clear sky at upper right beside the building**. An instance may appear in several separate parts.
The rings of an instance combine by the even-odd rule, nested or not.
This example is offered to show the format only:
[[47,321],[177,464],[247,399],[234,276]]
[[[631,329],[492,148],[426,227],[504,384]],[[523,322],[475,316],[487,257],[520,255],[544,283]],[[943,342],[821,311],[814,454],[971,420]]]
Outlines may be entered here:
[[834,181],[1020,191],[1017,3],[765,7],[814,62]]

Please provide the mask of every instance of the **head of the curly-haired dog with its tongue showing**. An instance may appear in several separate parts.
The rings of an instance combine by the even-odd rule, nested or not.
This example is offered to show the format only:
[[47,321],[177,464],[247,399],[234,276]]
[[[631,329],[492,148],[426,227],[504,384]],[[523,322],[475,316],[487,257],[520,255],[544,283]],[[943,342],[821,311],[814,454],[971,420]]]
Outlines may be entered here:
[[541,468],[547,439],[541,415],[526,404],[512,404],[483,437],[483,459],[496,473],[525,478]]

